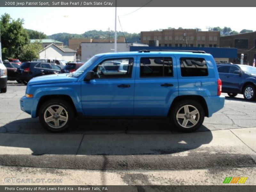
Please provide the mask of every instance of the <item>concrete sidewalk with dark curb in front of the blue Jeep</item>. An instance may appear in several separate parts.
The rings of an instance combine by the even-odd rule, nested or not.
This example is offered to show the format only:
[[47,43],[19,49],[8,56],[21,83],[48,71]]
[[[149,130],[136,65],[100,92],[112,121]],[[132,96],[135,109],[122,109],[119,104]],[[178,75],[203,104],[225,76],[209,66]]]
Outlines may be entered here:
[[256,185],[255,138],[256,128],[186,134],[1,133],[0,185],[8,184],[6,177],[62,179],[58,185],[221,185],[225,177],[248,177],[245,184]]

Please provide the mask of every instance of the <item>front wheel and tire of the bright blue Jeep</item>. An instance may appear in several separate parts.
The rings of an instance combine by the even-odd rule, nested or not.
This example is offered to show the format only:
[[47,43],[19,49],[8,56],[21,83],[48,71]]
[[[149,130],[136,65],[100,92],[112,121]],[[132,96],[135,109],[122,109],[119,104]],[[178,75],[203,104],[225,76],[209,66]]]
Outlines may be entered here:
[[[58,109],[60,110],[60,114],[57,113]],[[46,122],[46,118],[50,121]],[[71,127],[74,123],[74,110],[65,100],[48,100],[39,110],[39,121],[41,125],[50,132],[62,132],[67,130],[68,127]]]

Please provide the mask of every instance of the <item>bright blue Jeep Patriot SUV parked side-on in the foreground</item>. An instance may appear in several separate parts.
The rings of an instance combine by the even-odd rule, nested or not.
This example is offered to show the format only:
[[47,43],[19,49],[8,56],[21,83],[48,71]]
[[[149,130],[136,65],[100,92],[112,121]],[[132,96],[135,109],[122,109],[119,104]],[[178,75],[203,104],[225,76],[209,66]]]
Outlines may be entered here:
[[201,51],[102,53],[75,72],[28,82],[20,107],[60,132],[75,117],[169,117],[183,132],[224,106],[212,55]]

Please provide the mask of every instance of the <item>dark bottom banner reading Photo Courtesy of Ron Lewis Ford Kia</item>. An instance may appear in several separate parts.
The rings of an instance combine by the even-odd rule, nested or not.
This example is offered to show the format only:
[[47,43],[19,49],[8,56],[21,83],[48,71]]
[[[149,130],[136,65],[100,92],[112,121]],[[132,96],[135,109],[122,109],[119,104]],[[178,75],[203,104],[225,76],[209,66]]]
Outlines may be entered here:
[[85,191],[100,191],[100,192],[162,192],[162,191],[178,191],[178,192],[247,192],[255,191],[256,186],[242,186],[242,184],[223,184],[221,186],[178,186],[178,185],[135,185],[135,186],[110,186],[110,185],[95,185],[95,186],[0,186],[1,192],[42,192],[42,191],[54,191],[54,192],[85,192]]

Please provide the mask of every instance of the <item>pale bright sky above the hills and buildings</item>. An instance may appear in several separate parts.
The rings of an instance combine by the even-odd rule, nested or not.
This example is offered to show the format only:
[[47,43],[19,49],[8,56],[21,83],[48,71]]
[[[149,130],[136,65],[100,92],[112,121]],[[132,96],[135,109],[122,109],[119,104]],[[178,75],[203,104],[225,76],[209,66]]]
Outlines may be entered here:
[[[14,20],[24,19],[24,28],[46,35],[115,30],[115,7],[0,7],[0,15],[4,13]],[[208,31],[208,27],[230,27],[237,32],[256,31],[252,21],[255,7],[117,7],[117,16],[121,23],[117,17],[117,31],[123,29],[128,33],[168,27],[202,31]]]

